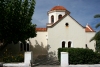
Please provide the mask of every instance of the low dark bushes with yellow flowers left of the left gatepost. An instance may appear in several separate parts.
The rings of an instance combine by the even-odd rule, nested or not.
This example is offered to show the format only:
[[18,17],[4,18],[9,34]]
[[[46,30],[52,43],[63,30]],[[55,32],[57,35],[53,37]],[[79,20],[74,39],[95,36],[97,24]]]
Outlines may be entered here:
[[18,53],[17,55],[8,52],[7,49],[5,52],[0,55],[0,62],[10,63],[10,62],[24,62],[24,55]]

